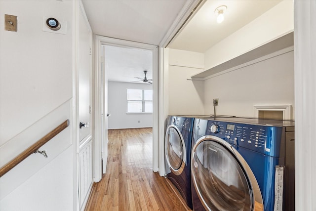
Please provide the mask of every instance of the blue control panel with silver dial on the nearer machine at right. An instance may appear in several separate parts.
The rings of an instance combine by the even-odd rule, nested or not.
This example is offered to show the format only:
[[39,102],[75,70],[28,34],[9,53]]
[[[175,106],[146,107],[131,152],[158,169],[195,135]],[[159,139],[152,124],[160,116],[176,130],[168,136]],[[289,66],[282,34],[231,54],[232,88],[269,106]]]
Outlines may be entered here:
[[282,129],[283,127],[208,120],[205,135],[214,135],[230,144],[278,156]]

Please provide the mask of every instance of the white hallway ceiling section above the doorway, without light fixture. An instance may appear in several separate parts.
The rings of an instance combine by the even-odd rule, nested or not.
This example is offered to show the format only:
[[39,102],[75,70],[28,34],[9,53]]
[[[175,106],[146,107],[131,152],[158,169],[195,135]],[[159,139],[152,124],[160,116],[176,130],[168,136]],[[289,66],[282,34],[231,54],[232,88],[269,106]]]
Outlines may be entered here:
[[158,45],[187,0],[83,0],[93,34]]

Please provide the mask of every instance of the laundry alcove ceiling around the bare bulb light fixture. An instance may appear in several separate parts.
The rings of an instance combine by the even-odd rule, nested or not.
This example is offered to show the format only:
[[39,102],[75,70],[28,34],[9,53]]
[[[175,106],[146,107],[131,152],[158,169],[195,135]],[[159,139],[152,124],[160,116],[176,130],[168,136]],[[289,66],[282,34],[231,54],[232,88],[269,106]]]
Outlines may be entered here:
[[[168,47],[204,53],[279,2],[281,0],[207,0]],[[220,5],[226,5],[227,10],[224,21],[218,24],[214,11]]]

